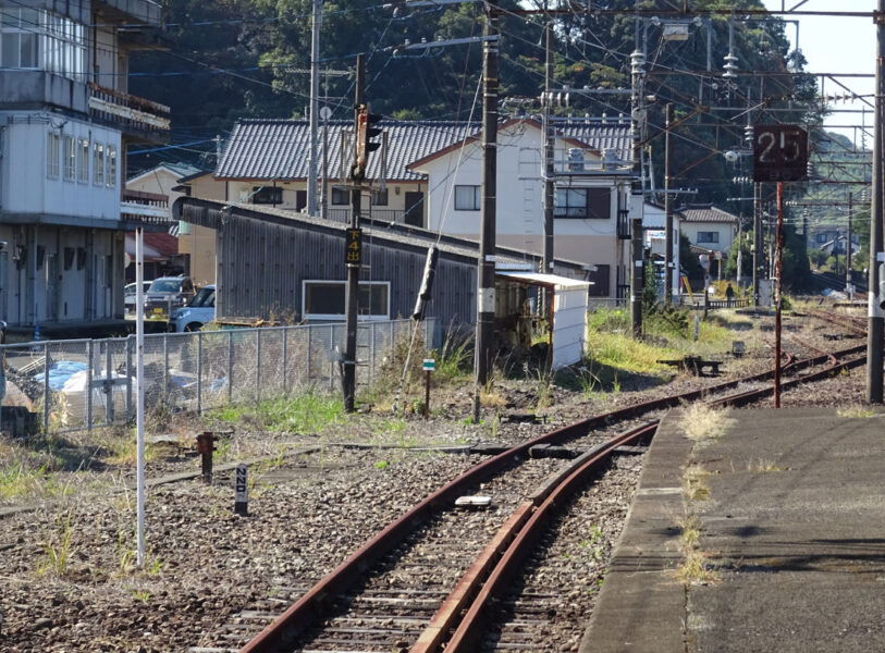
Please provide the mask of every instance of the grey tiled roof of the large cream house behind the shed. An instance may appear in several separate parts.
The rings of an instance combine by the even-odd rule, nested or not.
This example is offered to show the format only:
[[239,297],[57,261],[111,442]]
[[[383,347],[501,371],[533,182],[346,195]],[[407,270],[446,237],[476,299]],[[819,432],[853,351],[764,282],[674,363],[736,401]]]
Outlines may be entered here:
[[[536,122],[527,119],[528,122]],[[617,119],[567,119],[555,121],[561,137],[585,144],[590,149],[614,150],[618,158],[629,159],[629,124]],[[479,123],[435,121],[381,121],[388,134],[388,173],[392,181],[420,181],[423,175],[408,165],[451,147],[467,137],[479,137]],[[349,144],[352,121],[329,123],[329,176],[339,175],[342,134]],[[216,171],[219,178],[245,180],[305,180],[309,157],[309,123],[303,120],[241,120],[234,125]],[[319,153],[322,160],[322,125],[319,133]],[[321,165],[321,163],[320,163]],[[378,178],[381,156],[369,156],[369,178]]]

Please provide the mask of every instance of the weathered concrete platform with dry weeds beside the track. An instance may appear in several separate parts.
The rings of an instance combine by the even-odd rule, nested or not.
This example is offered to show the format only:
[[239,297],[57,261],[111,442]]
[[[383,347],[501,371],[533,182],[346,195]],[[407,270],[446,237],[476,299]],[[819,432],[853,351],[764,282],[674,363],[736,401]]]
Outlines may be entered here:
[[[704,444],[663,420],[580,652],[885,651],[885,415],[730,416]],[[677,578],[687,514],[715,580]]]

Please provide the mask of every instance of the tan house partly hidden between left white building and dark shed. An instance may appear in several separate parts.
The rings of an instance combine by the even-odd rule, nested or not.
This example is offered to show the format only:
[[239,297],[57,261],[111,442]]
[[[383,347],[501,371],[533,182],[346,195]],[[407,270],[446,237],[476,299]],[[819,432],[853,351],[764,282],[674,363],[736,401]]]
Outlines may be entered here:
[[[167,198],[168,220],[172,221],[172,204],[182,196],[194,195],[206,199],[225,199],[225,185],[216,181],[212,171],[202,170],[186,163],[162,163],[147,170],[126,182],[126,189],[131,193],[147,194]],[[174,223],[177,242],[175,257],[167,259],[167,267],[179,268],[183,274],[189,275],[198,286],[216,282],[216,235],[210,229],[192,225],[187,222]],[[130,238],[126,241],[127,254]],[[146,234],[147,245],[147,234]],[[130,268],[126,268],[127,279]],[[157,269],[156,272],[145,271],[145,279],[167,273]]]

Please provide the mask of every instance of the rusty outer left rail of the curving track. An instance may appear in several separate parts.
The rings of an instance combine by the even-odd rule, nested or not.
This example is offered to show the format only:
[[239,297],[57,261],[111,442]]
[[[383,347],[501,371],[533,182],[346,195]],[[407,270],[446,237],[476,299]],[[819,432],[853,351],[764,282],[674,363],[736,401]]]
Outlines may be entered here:
[[[822,357],[818,357],[819,359]],[[802,367],[804,365],[820,365],[821,360],[808,359],[790,361],[784,369]],[[360,575],[377,563],[384,554],[414,532],[417,525],[427,521],[437,510],[454,503],[469,486],[481,482],[511,465],[516,458],[527,458],[529,449],[539,444],[558,444],[564,441],[586,435],[591,430],[605,427],[612,422],[635,418],[644,412],[669,408],[680,403],[703,398],[709,394],[722,392],[737,386],[740,383],[764,381],[771,378],[773,371],[761,372],[733,381],[726,381],[709,387],[695,390],[669,397],[652,399],[600,414],[566,427],[556,429],[523,444],[514,446],[489,460],[477,465],[460,477],[450,481],[433,492],[395,521],[371,538],[359,550],[341,563],[316,586],[302,595],[280,617],[267,626],[251,639],[239,653],[270,653],[281,650],[285,643],[311,626],[320,614],[322,605],[332,596],[347,590]]]

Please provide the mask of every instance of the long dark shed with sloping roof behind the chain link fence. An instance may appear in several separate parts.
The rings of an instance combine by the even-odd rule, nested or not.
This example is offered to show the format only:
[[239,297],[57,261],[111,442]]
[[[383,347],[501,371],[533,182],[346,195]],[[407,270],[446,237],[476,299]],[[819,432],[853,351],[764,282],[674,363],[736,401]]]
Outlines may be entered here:
[[[305,310],[309,284],[325,283],[329,288],[346,279],[345,224],[282,209],[231,206],[193,197],[177,199],[173,215],[216,230],[219,317],[268,318],[275,313],[310,320],[310,312]],[[443,329],[476,321],[476,242],[371,220],[365,220],[362,226],[360,285],[382,286],[385,289],[379,295],[385,295],[385,301],[379,315],[370,311],[361,319],[411,315],[427,249],[434,244],[440,256],[428,317],[437,318]],[[499,248],[496,254],[502,266],[537,269],[540,263],[540,256],[530,252]],[[579,263],[568,261],[557,261],[556,270],[576,278],[586,273]],[[314,287],[320,296],[320,285]],[[377,304],[382,304],[380,298]]]

